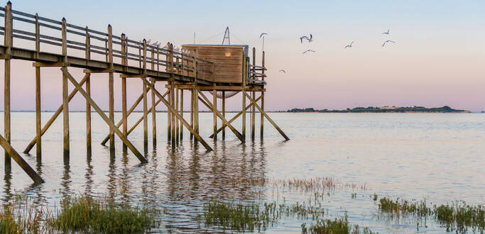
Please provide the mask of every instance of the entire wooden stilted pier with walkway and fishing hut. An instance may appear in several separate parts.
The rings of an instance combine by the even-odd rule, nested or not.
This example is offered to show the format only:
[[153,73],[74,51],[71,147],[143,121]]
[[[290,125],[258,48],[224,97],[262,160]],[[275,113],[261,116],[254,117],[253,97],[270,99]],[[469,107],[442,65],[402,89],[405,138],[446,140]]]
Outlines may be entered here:
[[[41,183],[43,179],[23,160],[21,155],[10,145],[11,141],[11,106],[10,80],[11,60],[33,61],[36,72],[36,135],[23,153],[28,154],[36,146],[38,162],[42,160],[42,135],[50,128],[56,118],[62,113],[63,121],[63,159],[69,162],[70,155],[70,121],[69,101],[79,93],[86,100],[86,143],[87,153],[92,149],[91,113],[96,111],[109,126],[109,133],[102,141],[102,145],[109,141],[109,149],[114,151],[115,135],[123,142],[124,151],[130,150],[141,163],[148,162],[128,139],[129,134],[143,122],[143,145],[145,151],[148,145],[148,116],[152,120],[152,141],[156,145],[157,126],[156,106],[163,103],[167,107],[168,140],[172,143],[182,140],[183,128],[190,133],[190,139],[202,144],[206,150],[212,147],[199,134],[199,105],[202,103],[213,113],[213,134],[209,138],[218,140],[218,133],[222,131],[222,140],[229,128],[236,137],[246,140],[246,111],[251,113],[251,140],[255,139],[256,109],[261,114],[260,137],[263,138],[263,123],[266,118],[285,138],[276,123],[264,112],[264,92],[266,91],[266,67],[264,66],[264,52],[261,65],[256,65],[256,51],[252,50],[252,64],[249,52],[244,46],[230,45],[183,45],[182,52],[175,51],[173,45],[167,43],[164,47],[149,45],[146,40],[132,40],[125,34],[113,35],[110,25],[105,32],[92,30],[87,26],[76,26],[67,23],[65,18],[53,20],[43,18],[38,14],[14,11],[9,1],[4,8],[0,8],[0,16],[4,17],[4,26],[0,27],[0,35],[4,37],[4,45],[0,45],[0,59],[5,62],[4,73],[4,135],[0,134],[0,145],[5,150],[5,170],[11,170],[11,158],[33,179],[34,183]],[[21,24],[22,27],[16,27]],[[26,25],[29,25],[26,27]],[[27,30],[33,28],[34,30]],[[45,33],[44,33],[45,32]],[[30,43],[28,43],[30,42]],[[32,48],[31,42],[35,44]],[[43,50],[43,46],[50,50]],[[53,49],[54,48],[54,49]],[[55,50],[57,52],[52,52]],[[188,51],[188,52],[184,52]],[[219,55],[220,54],[220,55]],[[236,56],[237,55],[237,56]],[[62,104],[53,116],[41,126],[40,110],[40,69],[43,67],[58,67],[62,74]],[[70,69],[82,69],[84,77],[76,79]],[[91,99],[91,74],[105,73],[108,77],[109,111],[108,115],[102,111]],[[122,117],[117,123],[114,120],[114,74],[121,79]],[[138,99],[127,109],[126,79],[139,79],[142,88]],[[79,81],[78,81],[79,80]],[[157,82],[166,82],[166,91],[156,89]],[[75,89],[68,90],[71,83]],[[84,87],[83,87],[84,86]],[[182,115],[184,111],[183,95],[190,92],[190,122]],[[209,99],[203,91],[212,94]],[[231,91],[242,93],[242,108],[229,121],[225,118],[226,94]],[[219,111],[217,96],[222,94],[222,107]],[[260,94],[256,98],[256,94]],[[148,106],[148,95],[151,106]],[[249,105],[246,106],[246,101]],[[127,118],[136,106],[142,102],[143,116],[129,127]],[[237,118],[242,118],[241,133],[231,125]],[[217,119],[222,126],[217,127]],[[119,129],[121,127],[121,130]],[[175,145],[175,144],[173,144]]]

